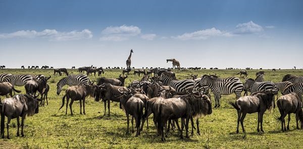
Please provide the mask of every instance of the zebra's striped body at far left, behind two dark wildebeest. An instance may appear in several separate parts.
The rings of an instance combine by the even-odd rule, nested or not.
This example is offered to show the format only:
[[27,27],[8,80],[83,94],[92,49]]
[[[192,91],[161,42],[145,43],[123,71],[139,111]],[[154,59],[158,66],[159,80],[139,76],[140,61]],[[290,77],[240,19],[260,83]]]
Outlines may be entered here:
[[8,82],[14,86],[24,86],[26,82],[33,79],[31,75],[11,75],[4,78],[3,82]]

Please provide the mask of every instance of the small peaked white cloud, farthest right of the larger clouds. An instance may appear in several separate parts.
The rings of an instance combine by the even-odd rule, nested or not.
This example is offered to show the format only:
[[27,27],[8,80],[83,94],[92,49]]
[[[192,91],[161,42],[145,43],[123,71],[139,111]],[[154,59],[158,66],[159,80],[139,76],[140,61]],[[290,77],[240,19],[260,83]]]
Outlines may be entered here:
[[238,24],[236,26],[235,34],[252,34],[252,33],[259,33],[263,31],[263,27],[249,21],[247,23]]

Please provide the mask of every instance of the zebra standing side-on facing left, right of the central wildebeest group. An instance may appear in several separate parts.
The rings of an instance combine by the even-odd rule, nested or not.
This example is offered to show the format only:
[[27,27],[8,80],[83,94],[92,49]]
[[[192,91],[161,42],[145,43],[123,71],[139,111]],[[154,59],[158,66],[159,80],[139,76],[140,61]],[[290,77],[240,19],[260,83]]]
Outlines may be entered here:
[[243,84],[241,81],[234,80],[229,82],[218,82],[211,76],[204,75],[200,80],[200,85],[207,85],[214,93],[215,107],[220,107],[221,95],[236,94],[236,99],[241,97],[243,91]]

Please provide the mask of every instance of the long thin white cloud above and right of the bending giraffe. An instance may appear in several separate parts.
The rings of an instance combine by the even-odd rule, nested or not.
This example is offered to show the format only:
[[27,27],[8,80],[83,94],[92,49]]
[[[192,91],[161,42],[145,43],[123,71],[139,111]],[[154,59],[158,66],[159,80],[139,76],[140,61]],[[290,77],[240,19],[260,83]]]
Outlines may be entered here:
[[220,31],[216,28],[211,29],[205,29],[205,30],[199,30],[192,33],[184,33],[183,35],[179,36],[172,36],[174,39],[180,39],[180,40],[200,40],[200,39],[208,39],[210,37],[218,37],[218,36],[224,36],[224,37],[230,37],[233,36],[232,33],[226,32],[226,31]]

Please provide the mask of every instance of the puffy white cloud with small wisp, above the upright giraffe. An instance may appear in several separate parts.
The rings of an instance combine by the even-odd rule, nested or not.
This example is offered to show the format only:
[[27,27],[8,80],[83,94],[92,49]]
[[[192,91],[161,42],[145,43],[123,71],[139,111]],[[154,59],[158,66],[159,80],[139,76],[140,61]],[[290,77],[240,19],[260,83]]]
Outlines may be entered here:
[[142,34],[141,29],[133,25],[110,26],[104,29],[102,34],[101,41],[124,41],[138,36],[145,40],[154,40],[157,36],[156,34]]

